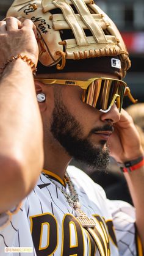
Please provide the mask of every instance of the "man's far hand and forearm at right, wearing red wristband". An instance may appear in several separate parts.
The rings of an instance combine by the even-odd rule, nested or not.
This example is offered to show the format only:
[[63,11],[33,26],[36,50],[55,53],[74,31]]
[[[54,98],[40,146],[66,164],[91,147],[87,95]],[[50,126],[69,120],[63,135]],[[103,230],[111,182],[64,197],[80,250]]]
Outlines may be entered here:
[[[121,112],[120,122],[115,124],[115,131],[110,137],[110,153],[120,163],[132,161],[143,156],[143,149],[140,143],[132,118],[126,111]],[[141,166],[141,167],[139,167]],[[136,225],[144,249],[144,166],[141,161],[135,165],[132,172],[124,172],[124,176],[131,192],[131,197],[136,209]]]

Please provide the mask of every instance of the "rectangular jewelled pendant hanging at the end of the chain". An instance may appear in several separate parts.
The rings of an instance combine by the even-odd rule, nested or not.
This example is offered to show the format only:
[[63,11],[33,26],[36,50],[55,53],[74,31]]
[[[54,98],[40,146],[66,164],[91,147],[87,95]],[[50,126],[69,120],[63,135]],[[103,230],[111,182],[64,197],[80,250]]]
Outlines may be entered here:
[[81,223],[82,227],[94,228],[96,223],[94,219],[88,218],[87,214],[81,209],[76,209],[76,219]]

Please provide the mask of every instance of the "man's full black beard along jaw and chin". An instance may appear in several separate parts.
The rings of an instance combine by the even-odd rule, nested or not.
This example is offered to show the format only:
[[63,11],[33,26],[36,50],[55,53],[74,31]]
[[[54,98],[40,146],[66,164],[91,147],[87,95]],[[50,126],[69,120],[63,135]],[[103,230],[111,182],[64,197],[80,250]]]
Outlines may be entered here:
[[[57,93],[56,93],[57,94]],[[109,128],[110,130],[110,128]],[[67,108],[60,100],[59,95],[55,95],[55,106],[52,113],[51,133],[60,145],[65,148],[68,155],[77,161],[87,164],[91,169],[107,168],[109,163],[109,150],[103,148],[106,141],[101,141],[101,147],[94,147],[88,137],[81,139],[82,128],[79,122],[68,112]]]

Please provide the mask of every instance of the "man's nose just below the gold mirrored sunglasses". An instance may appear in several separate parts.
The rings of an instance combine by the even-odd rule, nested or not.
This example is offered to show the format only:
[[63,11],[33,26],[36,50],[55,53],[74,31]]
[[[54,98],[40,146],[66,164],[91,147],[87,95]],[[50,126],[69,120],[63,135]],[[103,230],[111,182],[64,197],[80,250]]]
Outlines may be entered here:
[[117,123],[120,120],[120,112],[114,103],[110,111],[101,114],[101,120],[106,121],[109,120],[112,123]]

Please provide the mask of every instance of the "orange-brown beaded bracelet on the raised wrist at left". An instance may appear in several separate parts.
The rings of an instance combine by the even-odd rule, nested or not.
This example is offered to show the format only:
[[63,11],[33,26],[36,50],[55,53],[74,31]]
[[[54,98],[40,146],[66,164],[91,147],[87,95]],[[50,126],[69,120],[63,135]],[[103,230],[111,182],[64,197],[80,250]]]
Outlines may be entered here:
[[[9,59],[7,59],[7,62],[4,64],[4,67],[0,67],[0,69],[2,70],[2,72],[4,71],[5,67],[7,67],[7,65],[12,62],[13,60],[16,60],[16,59],[22,59],[24,60],[24,62],[27,62],[27,64],[29,64],[32,68],[32,74],[35,76],[36,75],[36,72],[37,72],[37,68],[35,67],[35,64],[34,62],[32,62],[31,59],[29,59],[26,55],[25,56],[21,56],[21,54],[18,54],[17,56],[11,56]],[[1,73],[2,73],[1,72]],[[1,75],[0,73],[0,75]]]

